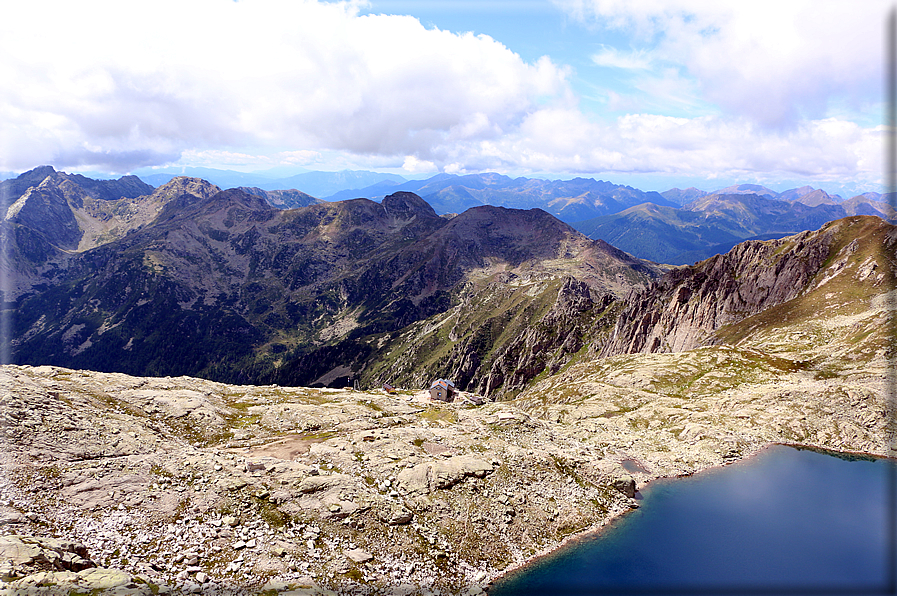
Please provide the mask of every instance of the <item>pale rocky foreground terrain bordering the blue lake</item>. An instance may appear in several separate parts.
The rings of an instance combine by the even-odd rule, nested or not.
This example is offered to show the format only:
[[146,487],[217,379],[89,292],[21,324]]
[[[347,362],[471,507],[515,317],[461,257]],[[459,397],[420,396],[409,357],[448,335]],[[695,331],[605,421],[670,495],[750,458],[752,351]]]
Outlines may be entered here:
[[795,364],[617,356],[480,406],[5,366],[0,593],[478,594],[652,478],[771,442],[897,454],[881,354]]

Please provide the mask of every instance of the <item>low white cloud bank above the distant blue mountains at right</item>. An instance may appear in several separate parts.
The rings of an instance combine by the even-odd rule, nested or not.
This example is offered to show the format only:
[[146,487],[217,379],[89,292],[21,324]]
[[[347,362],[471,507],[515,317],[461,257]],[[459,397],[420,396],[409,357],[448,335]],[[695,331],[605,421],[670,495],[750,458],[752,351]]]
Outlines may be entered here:
[[[455,147],[455,170],[661,174],[703,179],[881,183],[882,131],[844,120],[770,130],[747,119],[628,114],[603,124],[542,110],[495,141]],[[464,164],[460,166],[457,164]]]

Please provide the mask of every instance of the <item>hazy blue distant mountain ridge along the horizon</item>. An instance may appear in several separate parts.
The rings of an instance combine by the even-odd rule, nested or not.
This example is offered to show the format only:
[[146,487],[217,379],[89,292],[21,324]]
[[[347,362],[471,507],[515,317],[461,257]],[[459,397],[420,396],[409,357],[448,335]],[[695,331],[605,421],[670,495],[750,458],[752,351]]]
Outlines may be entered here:
[[[194,170],[207,171],[202,168]],[[208,171],[216,175],[233,175],[240,181],[252,177],[239,172]],[[2,183],[0,191],[7,197],[6,204],[16,200],[28,188],[39,185],[49,174],[53,174],[54,179],[69,180],[71,184],[78,181],[75,184],[81,189],[78,192],[87,193],[85,196],[102,196],[102,200],[117,200],[125,196],[136,199],[136,194],[150,194],[149,185],[134,176],[118,181],[92,181],[84,176],[56,173],[52,167],[43,166]],[[262,196],[280,209],[304,207],[322,199],[295,188],[272,190],[276,186],[310,184],[324,185],[319,187],[321,190],[324,187],[332,190],[371,180],[375,182],[370,186],[343,190],[328,196],[326,200],[381,199],[387,194],[406,191],[421,196],[441,215],[461,213],[483,205],[541,208],[573,224],[592,238],[605,240],[639,258],[670,264],[695,262],[726,252],[744,240],[778,238],[815,229],[825,221],[849,215],[876,215],[888,221],[897,221],[897,213],[888,204],[888,197],[865,193],[845,201],[838,195],[829,195],[811,186],[782,193],[756,184],[734,185],[714,193],[696,188],[656,193],[593,179],[548,181],[510,178],[496,173],[463,176],[438,174],[428,179],[410,181],[401,176],[348,170],[306,172],[276,180],[267,179],[261,174],[254,176],[262,180],[259,183],[263,186],[240,185],[238,188]],[[719,199],[707,199],[723,196],[728,197],[728,206],[723,207]],[[752,197],[760,197],[761,200],[758,202]],[[111,214],[103,217],[116,223]],[[101,234],[116,233],[108,232],[110,225],[106,223],[94,227]],[[126,231],[127,227],[119,226],[119,229]],[[57,231],[63,232],[61,228]],[[61,239],[62,236],[57,238]]]

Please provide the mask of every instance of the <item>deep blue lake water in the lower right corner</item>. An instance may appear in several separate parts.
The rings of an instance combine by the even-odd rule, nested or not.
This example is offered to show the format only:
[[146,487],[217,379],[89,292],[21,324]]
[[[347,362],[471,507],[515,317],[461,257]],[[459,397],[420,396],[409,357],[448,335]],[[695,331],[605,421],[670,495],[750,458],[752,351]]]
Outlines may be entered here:
[[774,446],[658,480],[602,532],[490,596],[893,594],[893,461]]

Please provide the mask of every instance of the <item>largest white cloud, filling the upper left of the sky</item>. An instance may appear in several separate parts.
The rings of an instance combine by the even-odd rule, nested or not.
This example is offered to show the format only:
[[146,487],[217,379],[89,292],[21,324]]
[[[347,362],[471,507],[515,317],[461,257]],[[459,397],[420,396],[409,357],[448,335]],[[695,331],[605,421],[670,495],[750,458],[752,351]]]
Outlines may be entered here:
[[527,63],[489,37],[362,16],[353,3],[8,8],[6,169],[62,156],[125,167],[116,156],[129,151],[244,146],[426,155],[446,140],[499,136],[539,103],[569,96],[567,71],[547,58]]

